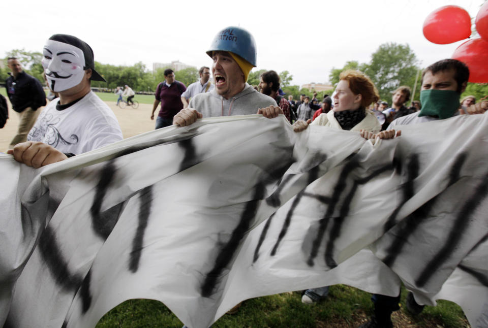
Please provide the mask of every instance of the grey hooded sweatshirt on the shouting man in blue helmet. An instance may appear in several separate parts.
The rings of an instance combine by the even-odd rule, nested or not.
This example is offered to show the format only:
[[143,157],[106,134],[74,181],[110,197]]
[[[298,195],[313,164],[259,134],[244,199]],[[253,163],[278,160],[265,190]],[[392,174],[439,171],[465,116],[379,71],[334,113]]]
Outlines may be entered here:
[[246,83],[244,89],[230,99],[219,95],[216,89],[199,93],[192,98],[188,107],[196,109],[203,117],[215,117],[256,114],[259,108],[270,105],[277,106],[276,101]]

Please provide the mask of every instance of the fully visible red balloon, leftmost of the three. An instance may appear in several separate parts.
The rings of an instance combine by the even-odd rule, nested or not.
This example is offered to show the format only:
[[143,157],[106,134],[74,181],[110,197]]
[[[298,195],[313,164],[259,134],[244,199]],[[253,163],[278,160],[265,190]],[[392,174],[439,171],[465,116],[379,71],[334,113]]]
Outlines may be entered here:
[[434,10],[423,22],[423,35],[437,44],[448,44],[469,38],[471,18],[466,10],[457,6],[444,6]]

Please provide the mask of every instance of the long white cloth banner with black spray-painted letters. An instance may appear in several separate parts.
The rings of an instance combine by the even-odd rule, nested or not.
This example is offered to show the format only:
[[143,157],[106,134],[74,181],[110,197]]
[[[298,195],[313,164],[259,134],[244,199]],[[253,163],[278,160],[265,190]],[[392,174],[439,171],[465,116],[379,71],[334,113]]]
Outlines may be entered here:
[[396,296],[402,281],[486,327],[487,120],[373,145],[220,117],[38,170],[1,155],[0,323],[93,327],[147,298],[207,328],[253,297],[337,283]]

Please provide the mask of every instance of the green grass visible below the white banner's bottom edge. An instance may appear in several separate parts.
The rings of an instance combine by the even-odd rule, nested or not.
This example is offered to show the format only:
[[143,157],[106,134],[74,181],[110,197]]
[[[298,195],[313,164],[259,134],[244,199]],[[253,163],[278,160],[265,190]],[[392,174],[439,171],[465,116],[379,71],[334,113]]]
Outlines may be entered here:
[[[402,305],[407,291],[402,291]],[[371,294],[345,285],[330,287],[329,296],[316,305],[301,303],[300,292],[282,293],[243,302],[237,314],[224,315],[212,328],[224,327],[295,327],[355,328],[373,313]],[[439,301],[436,307],[411,316],[402,307],[392,315],[398,328],[469,327],[459,306]],[[162,303],[153,300],[130,300],[108,312],[97,328],[167,327],[180,328],[182,323]]]

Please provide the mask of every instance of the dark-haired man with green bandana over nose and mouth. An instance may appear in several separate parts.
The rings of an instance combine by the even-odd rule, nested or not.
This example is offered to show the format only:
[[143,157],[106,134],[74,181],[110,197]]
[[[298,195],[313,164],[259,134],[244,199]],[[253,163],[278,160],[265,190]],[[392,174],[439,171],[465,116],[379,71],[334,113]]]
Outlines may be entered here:
[[[388,126],[388,130],[396,125],[417,124],[433,120],[440,120],[459,115],[459,99],[466,89],[469,79],[469,69],[463,62],[456,59],[443,59],[430,65],[423,71],[420,103],[422,109],[406,116],[395,119]],[[468,114],[484,113],[488,104],[472,105],[467,108]],[[375,315],[359,328],[388,328],[392,327],[391,313],[400,309],[400,295],[390,297],[374,294]],[[413,293],[409,292],[405,302],[406,309],[412,314],[419,314],[423,305],[417,304]]]

